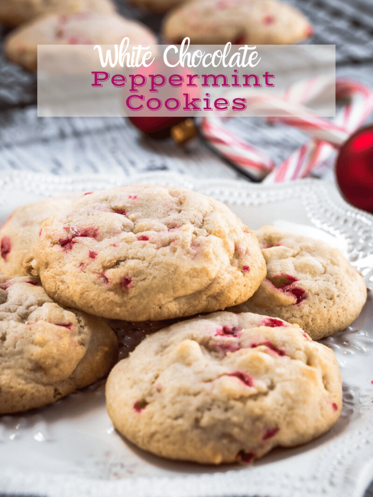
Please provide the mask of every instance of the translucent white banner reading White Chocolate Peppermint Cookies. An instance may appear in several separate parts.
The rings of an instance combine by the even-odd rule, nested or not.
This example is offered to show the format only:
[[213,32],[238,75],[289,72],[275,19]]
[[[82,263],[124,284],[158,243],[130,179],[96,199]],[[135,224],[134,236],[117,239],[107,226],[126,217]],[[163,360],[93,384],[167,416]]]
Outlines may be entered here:
[[335,115],[334,45],[39,45],[37,77],[44,117]]

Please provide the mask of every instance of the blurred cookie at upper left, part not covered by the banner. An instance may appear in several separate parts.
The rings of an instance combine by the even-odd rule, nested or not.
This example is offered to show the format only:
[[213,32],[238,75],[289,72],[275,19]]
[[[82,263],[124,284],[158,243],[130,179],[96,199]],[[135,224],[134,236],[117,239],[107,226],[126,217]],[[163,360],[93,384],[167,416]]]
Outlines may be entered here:
[[133,45],[157,43],[147,27],[120,15],[49,14],[12,31],[5,40],[5,55],[28,71],[36,71],[38,45],[120,45],[126,36]]

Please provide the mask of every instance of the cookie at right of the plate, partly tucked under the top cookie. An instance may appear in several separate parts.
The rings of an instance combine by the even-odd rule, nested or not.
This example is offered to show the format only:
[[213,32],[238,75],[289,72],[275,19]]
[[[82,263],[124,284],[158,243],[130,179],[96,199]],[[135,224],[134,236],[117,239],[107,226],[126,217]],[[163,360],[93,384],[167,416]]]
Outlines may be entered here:
[[267,278],[235,312],[296,323],[314,340],[347,328],[360,314],[367,287],[338,248],[264,226],[256,231]]

